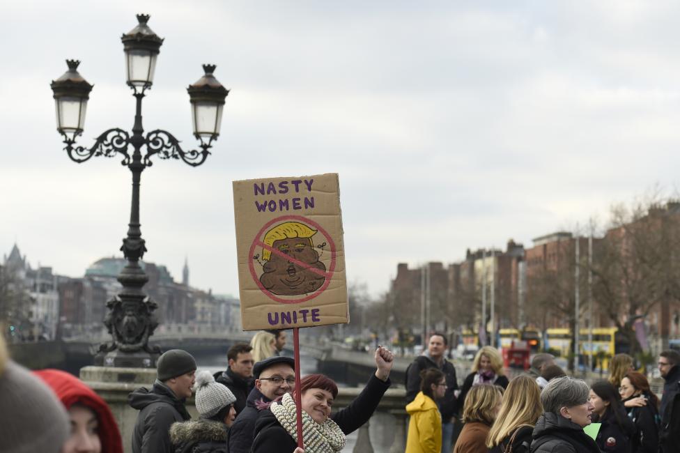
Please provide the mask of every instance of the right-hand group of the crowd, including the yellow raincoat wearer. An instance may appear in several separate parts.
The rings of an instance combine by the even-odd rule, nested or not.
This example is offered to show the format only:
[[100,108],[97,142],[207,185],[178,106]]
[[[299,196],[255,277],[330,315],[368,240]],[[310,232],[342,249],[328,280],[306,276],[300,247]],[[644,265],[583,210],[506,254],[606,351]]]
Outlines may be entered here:
[[[676,351],[659,355],[665,385],[658,399],[627,354],[610,360],[607,381],[588,385],[547,353],[509,380],[491,346],[477,352],[458,390],[446,341],[431,335],[406,371],[406,453],[680,453]],[[596,429],[585,429],[592,423]],[[447,424],[454,429],[443,429]]]

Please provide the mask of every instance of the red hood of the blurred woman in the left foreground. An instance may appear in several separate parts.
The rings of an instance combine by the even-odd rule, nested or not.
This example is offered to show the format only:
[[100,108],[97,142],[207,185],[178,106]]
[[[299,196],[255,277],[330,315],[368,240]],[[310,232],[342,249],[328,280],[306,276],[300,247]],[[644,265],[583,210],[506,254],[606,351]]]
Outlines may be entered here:
[[123,453],[123,442],[116,419],[109,406],[94,390],[72,374],[58,369],[42,369],[33,373],[52,388],[67,410],[73,404],[79,403],[94,411],[99,422],[102,453]]

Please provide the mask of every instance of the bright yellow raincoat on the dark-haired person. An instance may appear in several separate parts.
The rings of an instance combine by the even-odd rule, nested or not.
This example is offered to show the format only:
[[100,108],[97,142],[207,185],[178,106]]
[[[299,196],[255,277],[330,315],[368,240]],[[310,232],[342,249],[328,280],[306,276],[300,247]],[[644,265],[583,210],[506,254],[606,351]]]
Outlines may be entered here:
[[419,392],[406,405],[411,416],[408,423],[405,453],[440,453],[442,451],[442,415],[433,399]]

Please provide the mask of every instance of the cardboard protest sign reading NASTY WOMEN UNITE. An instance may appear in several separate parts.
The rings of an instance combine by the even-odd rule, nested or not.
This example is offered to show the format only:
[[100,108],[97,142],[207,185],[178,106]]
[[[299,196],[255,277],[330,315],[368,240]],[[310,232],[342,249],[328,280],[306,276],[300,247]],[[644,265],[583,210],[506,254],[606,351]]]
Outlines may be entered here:
[[337,174],[233,182],[243,330],[348,323]]

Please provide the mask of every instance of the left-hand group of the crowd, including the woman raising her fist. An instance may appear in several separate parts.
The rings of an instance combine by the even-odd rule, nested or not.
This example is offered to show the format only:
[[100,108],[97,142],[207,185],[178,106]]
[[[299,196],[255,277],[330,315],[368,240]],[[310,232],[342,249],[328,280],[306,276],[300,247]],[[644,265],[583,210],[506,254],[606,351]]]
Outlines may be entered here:
[[[335,413],[338,387],[322,374],[300,380],[302,440],[297,447],[295,360],[279,355],[285,332],[260,332],[235,344],[228,367],[201,371],[187,351],[173,349],[156,362],[150,387],[130,392],[139,410],[133,453],[332,453],[373,415],[391,385],[394,355],[378,346],[376,371],[364,390]],[[106,402],[78,378],[58,370],[29,371],[8,358],[0,339],[0,452],[123,453],[123,440]],[[270,347],[270,349],[265,348]],[[253,353],[269,351],[254,360]],[[185,406],[194,395],[199,417]]]

